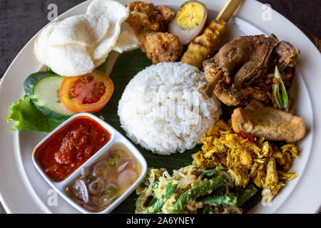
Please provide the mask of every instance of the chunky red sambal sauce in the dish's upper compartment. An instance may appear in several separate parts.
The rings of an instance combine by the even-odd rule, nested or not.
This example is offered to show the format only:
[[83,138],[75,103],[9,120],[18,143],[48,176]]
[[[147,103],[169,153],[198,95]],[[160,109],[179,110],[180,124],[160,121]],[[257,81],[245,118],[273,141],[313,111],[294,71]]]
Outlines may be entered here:
[[64,180],[106,145],[111,134],[95,120],[78,117],[36,150],[36,160],[55,182]]

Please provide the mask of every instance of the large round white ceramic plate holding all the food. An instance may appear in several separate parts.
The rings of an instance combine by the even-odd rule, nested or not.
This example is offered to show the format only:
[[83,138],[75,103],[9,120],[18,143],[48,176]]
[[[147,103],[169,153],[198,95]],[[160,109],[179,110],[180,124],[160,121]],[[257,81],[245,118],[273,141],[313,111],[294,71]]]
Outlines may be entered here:
[[[123,4],[129,1],[121,0]],[[155,0],[154,4],[165,4],[178,9],[184,1]],[[215,18],[223,9],[225,0],[203,0],[210,9],[210,18]],[[84,14],[89,1],[79,4],[58,17]],[[301,53],[292,83],[292,97],[295,103],[291,112],[299,115],[307,125],[307,136],[300,142],[302,152],[296,159],[292,170],[297,177],[287,183],[275,197],[270,207],[258,204],[253,213],[315,213],[321,205],[321,56],[313,43],[295,25],[278,14],[271,12],[271,20],[263,20],[265,6],[258,1],[245,0],[235,17],[230,19],[228,33],[223,43],[235,36],[258,33],[275,33],[280,40],[290,41]],[[262,18],[263,16],[263,18]],[[77,213],[71,205],[58,197],[58,206],[47,203],[51,187],[41,177],[32,164],[31,152],[45,133],[23,130],[9,130],[6,123],[9,105],[22,98],[24,79],[29,74],[39,71],[41,63],[34,56],[34,38],[26,44],[14,59],[0,84],[0,199],[6,212],[11,213]]]

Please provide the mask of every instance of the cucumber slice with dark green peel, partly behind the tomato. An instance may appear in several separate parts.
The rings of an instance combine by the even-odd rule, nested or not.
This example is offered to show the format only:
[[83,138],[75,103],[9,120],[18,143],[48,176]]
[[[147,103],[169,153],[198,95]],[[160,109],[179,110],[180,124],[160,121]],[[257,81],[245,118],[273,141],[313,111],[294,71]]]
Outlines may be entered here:
[[59,88],[64,78],[51,72],[38,72],[26,79],[24,90],[44,115],[66,119],[75,114],[68,110],[59,98]]

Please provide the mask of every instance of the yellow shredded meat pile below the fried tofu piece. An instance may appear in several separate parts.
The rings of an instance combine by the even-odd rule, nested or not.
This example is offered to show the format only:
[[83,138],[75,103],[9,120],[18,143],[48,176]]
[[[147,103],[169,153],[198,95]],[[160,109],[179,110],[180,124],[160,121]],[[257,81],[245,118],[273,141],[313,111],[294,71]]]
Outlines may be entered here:
[[282,180],[295,178],[290,169],[292,160],[301,151],[295,144],[278,147],[264,138],[250,138],[233,132],[230,122],[219,120],[215,127],[204,133],[200,140],[202,151],[193,155],[193,163],[208,169],[223,164],[234,179],[234,185],[245,187],[249,182],[265,190],[265,202],[271,202]]

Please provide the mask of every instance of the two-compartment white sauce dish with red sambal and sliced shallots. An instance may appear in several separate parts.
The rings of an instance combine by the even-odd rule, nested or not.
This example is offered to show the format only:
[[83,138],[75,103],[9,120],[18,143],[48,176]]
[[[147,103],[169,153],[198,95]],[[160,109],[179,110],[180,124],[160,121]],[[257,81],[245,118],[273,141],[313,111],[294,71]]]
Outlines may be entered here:
[[49,133],[32,160],[46,182],[83,213],[110,213],[147,172],[141,152],[90,113],[73,115]]

